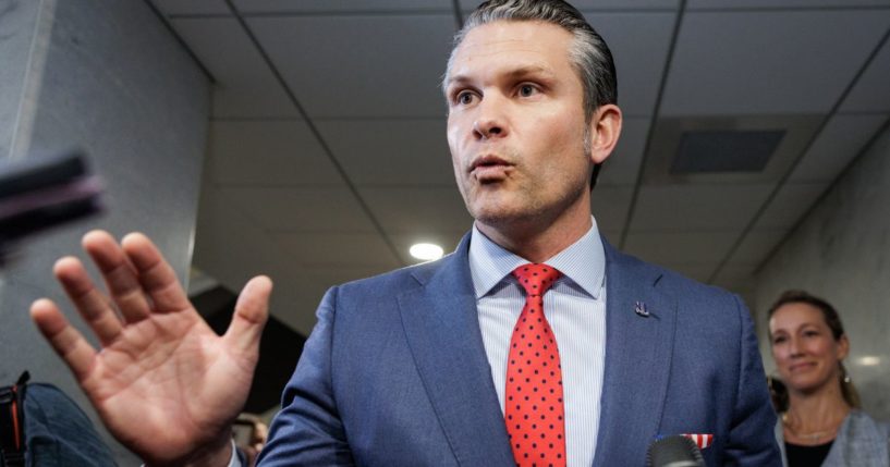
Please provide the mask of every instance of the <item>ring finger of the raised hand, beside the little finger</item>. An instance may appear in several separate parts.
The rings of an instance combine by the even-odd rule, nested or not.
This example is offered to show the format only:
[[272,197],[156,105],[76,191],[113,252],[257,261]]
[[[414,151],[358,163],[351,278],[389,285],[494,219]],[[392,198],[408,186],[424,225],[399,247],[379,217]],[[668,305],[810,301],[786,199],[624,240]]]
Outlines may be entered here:
[[117,339],[122,329],[121,320],[108,298],[93,285],[81,261],[62,258],[56,261],[52,272],[99,342],[108,345]]

